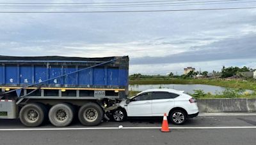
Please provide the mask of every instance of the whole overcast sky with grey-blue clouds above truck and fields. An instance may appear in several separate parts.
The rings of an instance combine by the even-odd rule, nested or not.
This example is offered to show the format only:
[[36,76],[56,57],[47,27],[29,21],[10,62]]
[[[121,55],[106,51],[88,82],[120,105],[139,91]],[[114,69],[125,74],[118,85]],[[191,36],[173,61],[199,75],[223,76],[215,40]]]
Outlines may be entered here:
[[[0,0],[0,3],[3,2],[20,3]],[[22,1],[29,2],[106,1]],[[256,3],[75,10],[177,10],[248,6],[256,6]],[[0,11],[26,10],[1,8]],[[52,8],[36,11],[74,10]],[[188,66],[209,72],[220,71],[222,66],[256,68],[256,9],[155,13],[0,13],[0,50],[0,55],[15,56],[129,55],[130,74],[182,74],[183,68]]]

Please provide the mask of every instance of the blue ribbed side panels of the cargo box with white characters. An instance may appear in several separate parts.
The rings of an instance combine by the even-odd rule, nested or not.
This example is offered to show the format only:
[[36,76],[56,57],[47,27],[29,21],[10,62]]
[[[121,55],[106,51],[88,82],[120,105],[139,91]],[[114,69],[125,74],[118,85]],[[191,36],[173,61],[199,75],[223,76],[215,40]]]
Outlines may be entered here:
[[[1,62],[1,60],[0,60]],[[68,74],[70,72],[84,69],[83,64],[76,62],[58,62],[58,64],[45,62],[5,62],[0,66],[0,84],[1,86],[26,86],[33,83],[40,83],[47,79]],[[88,63],[88,62],[87,62]],[[127,69],[113,67],[111,65],[104,67],[93,67],[77,74],[51,80],[44,83],[45,86],[103,86],[122,87],[127,86]]]

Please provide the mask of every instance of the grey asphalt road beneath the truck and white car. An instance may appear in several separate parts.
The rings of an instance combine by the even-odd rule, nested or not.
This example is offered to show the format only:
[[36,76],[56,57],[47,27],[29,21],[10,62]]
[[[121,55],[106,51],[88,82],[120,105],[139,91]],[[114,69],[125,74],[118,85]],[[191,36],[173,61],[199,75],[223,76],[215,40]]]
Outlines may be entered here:
[[161,118],[104,121],[97,127],[75,121],[61,130],[49,123],[27,128],[19,120],[0,120],[0,144],[256,144],[256,116],[198,116],[185,125],[170,124],[168,133],[157,127]]

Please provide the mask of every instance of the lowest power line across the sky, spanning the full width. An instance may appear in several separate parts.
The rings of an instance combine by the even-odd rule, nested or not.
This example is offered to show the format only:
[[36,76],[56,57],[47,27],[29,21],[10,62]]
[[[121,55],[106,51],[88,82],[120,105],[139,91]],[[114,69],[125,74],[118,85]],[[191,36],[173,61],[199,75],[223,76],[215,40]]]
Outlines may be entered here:
[[256,7],[243,8],[205,8],[205,9],[183,9],[183,10],[138,10],[138,11],[0,11],[0,13],[141,13],[141,12],[167,12],[167,11],[209,11],[209,10],[245,10],[256,9]]

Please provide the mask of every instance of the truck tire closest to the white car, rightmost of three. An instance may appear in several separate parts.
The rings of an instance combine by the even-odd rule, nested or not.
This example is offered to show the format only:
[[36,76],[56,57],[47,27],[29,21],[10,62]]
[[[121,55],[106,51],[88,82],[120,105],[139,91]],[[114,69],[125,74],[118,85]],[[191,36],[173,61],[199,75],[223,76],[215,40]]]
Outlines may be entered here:
[[99,125],[104,117],[102,108],[93,102],[87,103],[79,109],[79,121],[86,126]]

